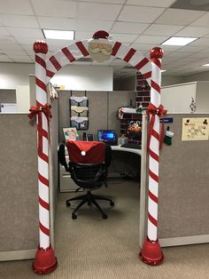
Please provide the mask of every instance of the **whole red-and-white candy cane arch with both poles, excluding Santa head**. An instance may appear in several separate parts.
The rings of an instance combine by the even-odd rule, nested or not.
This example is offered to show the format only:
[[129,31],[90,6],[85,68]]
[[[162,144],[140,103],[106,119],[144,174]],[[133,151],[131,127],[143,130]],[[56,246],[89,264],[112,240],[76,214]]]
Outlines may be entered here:
[[[36,252],[34,270],[39,274],[50,273],[57,267],[57,259],[50,247],[50,204],[49,204],[49,164],[48,124],[50,119],[50,106],[47,104],[46,84],[59,69],[82,57],[89,56],[89,40],[82,40],[69,44],[62,48],[48,60],[45,54],[48,52],[47,44],[36,42],[35,50],[35,84],[36,84],[36,107],[31,108],[33,114],[37,114],[38,125],[38,180],[39,180],[39,219],[40,219],[40,247]],[[126,61],[143,74],[147,83],[151,86],[151,114],[150,129],[151,140],[149,145],[149,202],[148,202],[148,236],[140,253],[141,259],[148,264],[157,265],[163,259],[162,251],[157,239],[158,219],[158,187],[159,187],[159,116],[163,115],[160,106],[160,79],[162,50],[154,48],[151,50],[151,61],[143,56],[141,52],[129,48],[120,42],[109,41],[112,44],[112,56]],[[31,116],[32,117],[32,116]],[[42,148],[40,148],[40,146]],[[42,150],[40,150],[42,149]],[[154,247],[154,249],[153,249]],[[157,248],[156,248],[157,247]],[[157,251],[157,252],[156,252]],[[156,256],[156,253],[158,254]]]

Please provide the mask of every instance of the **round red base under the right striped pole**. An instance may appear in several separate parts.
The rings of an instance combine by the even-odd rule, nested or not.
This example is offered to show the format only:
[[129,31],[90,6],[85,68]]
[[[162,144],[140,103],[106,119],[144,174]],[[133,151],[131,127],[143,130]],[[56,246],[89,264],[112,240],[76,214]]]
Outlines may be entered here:
[[151,241],[148,237],[143,243],[143,249],[139,256],[145,264],[151,266],[159,266],[164,259],[163,252],[159,246],[159,241]]

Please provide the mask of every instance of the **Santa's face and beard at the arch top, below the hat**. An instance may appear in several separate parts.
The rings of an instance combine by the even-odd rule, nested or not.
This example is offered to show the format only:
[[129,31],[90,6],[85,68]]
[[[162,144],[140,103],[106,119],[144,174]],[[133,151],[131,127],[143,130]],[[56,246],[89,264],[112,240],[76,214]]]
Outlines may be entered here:
[[89,42],[88,51],[90,58],[98,63],[109,60],[112,54],[112,45],[100,42]]

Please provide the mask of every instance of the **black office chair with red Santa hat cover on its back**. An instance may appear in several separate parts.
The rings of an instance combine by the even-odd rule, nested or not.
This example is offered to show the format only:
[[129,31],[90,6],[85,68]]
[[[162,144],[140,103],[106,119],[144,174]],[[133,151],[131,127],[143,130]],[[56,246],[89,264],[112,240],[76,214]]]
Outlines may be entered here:
[[101,212],[103,219],[107,215],[101,209],[96,200],[104,200],[114,203],[111,199],[100,195],[93,195],[91,190],[106,185],[107,169],[111,163],[112,149],[110,146],[99,141],[67,140],[66,147],[69,155],[69,163],[66,163],[65,145],[60,144],[58,148],[59,162],[71,173],[71,178],[79,189],[87,189],[86,195],[80,195],[66,200],[66,206],[71,205],[71,201],[81,200],[81,203],[74,209],[72,219],[77,219],[75,214],[84,203],[94,204]]

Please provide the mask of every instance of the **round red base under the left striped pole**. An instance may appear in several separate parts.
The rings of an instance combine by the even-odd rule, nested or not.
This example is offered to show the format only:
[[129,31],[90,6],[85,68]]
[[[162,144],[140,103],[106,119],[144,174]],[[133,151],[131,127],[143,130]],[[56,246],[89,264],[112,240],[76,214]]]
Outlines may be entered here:
[[48,249],[41,249],[36,251],[35,261],[33,263],[33,270],[36,274],[47,275],[53,272],[58,266],[57,258],[54,256],[54,251],[51,247]]

